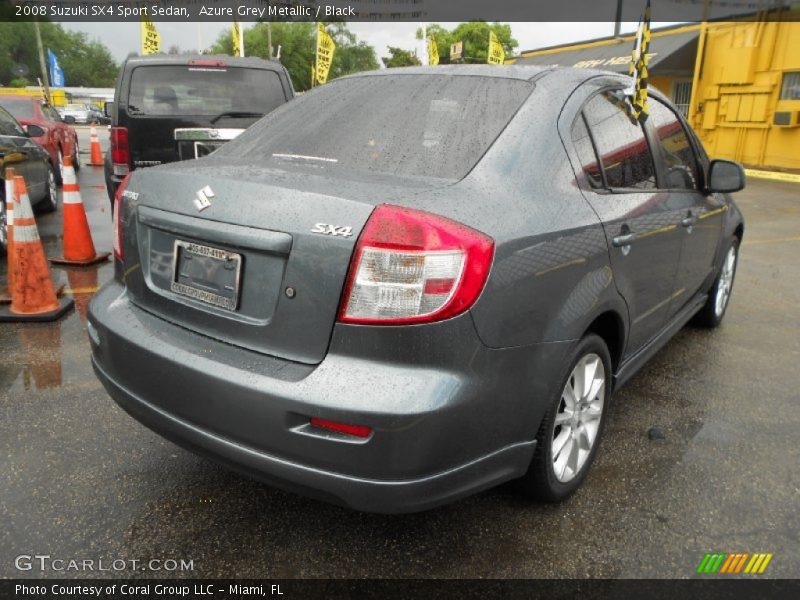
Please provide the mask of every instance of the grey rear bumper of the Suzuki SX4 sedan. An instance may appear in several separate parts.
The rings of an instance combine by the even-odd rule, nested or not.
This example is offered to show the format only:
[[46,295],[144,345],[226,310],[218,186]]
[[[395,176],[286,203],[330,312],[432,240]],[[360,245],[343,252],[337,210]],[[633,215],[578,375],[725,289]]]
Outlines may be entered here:
[[[448,327],[474,331],[469,315]],[[356,331],[302,365],[171,325],[116,282],[92,301],[89,333],[98,377],[149,428],[276,487],[371,512],[425,510],[523,475],[547,393],[526,380],[552,374],[568,347],[467,348],[471,359],[454,351],[460,365],[414,366],[359,357]],[[523,368],[531,358],[537,368]],[[343,438],[311,416],[373,433]]]

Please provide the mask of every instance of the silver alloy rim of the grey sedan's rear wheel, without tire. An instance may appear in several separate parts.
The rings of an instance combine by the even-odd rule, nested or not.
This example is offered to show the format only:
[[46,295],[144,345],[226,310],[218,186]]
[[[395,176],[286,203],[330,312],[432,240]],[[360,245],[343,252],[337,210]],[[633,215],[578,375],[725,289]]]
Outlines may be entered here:
[[606,390],[603,360],[594,353],[581,358],[561,392],[553,421],[553,473],[567,483],[581,472],[597,441]]

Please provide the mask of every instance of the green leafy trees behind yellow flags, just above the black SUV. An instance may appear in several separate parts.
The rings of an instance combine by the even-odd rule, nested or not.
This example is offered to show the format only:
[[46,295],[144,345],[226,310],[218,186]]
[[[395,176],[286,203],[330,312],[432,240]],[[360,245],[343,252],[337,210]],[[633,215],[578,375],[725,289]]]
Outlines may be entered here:
[[[356,35],[347,29],[345,23],[330,23],[328,31],[336,42],[330,79],[379,67],[372,46],[365,42],[359,42]],[[280,46],[280,61],[289,71],[294,88],[298,91],[304,91],[311,87],[311,66],[314,64],[316,40],[314,23],[272,23],[272,46],[275,53]],[[247,56],[261,58],[269,56],[266,23],[256,23],[253,27],[244,30],[244,50]],[[218,54],[232,54],[231,32],[220,33],[210,51]]]

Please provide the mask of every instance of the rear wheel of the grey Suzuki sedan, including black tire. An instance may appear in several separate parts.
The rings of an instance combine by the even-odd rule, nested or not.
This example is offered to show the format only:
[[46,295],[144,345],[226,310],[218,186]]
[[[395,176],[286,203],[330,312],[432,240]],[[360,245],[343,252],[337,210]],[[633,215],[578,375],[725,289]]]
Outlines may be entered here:
[[[594,375],[586,386],[585,374],[590,370]],[[580,377],[581,372],[584,378]],[[564,365],[536,434],[536,451],[520,481],[527,495],[546,502],[561,502],[586,479],[600,445],[611,401],[611,374],[611,356],[603,339],[589,334],[580,340]],[[570,402],[574,403],[570,390],[579,392],[579,411],[570,407]]]

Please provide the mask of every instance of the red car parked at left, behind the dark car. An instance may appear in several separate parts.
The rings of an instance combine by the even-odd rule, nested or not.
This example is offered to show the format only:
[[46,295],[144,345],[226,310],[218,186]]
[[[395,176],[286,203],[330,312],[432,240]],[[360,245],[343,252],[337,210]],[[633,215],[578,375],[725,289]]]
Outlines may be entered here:
[[62,180],[63,157],[67,152],[72,154],[75,170],[80,169],[78,134],[61,118],[55,108],[44,104],[41,98],[15,95],[0,95],[0,106],[14,115],[31,138],[47,150],[59,184]]

